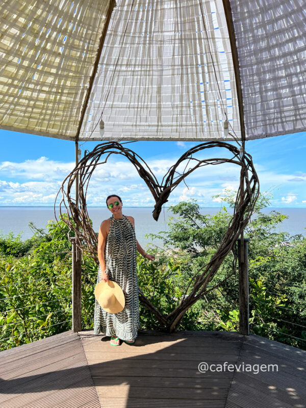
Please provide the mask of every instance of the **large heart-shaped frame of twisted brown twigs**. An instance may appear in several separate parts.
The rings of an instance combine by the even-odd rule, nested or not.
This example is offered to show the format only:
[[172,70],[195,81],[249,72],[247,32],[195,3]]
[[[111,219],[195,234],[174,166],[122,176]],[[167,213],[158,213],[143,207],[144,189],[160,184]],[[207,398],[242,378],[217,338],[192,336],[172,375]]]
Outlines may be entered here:
[[[213,147],[223,147],[227,149],[231,152],[232,157],[203,160],[193,157],[196,152]],[[240,188],[236,197],[233,218],[228,225],[228,230],[224,234],[217,252],[211,258],[210,262],[201,268],[201,275],[198,275],[199,271],[197,271],[194,287],[188,296],[184,298],[179,307],[173,310],[168,316],[164,316],[154,307],[154,305],[151,304],[149,299],[147,299],[140,290],[142,302],[156,315],[163,325],[172,331],[175,326],[180,323],[184,314],[192,304],[205,293],[207,285],[211,282],[228,252],[232,250],[239,235],[247,224],[259,194],[258,176],[253,167],[251,156],[244,152],[241,153],[236,146],[225,142],[206,142],[189,149],[173,166],[170,167],[161,183],[158,182],[156,176],[145,161],[133,150],[116,142],[99,144],[93,151],[85,155],[79,165],[66,177],[60,190],[63,195],[60,203],[60,214],[62,215],[61,206],[64,205],[69,217],[72,217],[74,221],[72,222],[71,218],[69,218],[68,220],[66,219],[65,222],[68,224],[70,230],[74,230],[77,245],[83,251],[85,250],[84,244],[86,244],[86,252],[89,252],[95,258],[97,264],[97,237],[89,221],[86,208],[86,193],[90,177],[96,166],[106,163],[108,158],[114,154],[125,156],[130,160],[137,169],[140,177],[145,181],[156,201],[155,209],[153,211],[153,217],[155,220],[158,220],[162,205],[168,201],[171,191],[184,181],[185,177],[195,169],[207,166],[208,164],[216,165],[221,163],[233,163],[241,166]],[[102,157],[104,160],[101,160]],[[179,167],[183,163],[184,170],[180,172]],[[188,167],[191,164],[193,164],[193,166]],[[77,203],[75,203],[75,200],[73,200],[70,195],[77,174],[79,175],[78,205],[76,205]],[[65,191],[64,186],[66,183],[67,190]]]

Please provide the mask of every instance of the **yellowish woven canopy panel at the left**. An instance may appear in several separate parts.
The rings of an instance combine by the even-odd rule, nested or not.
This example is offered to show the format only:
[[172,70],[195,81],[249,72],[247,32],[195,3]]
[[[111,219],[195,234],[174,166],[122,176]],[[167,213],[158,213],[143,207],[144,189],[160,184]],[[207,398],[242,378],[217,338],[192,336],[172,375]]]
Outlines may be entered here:
[[2,129],[74,140],[109,4],[2,0]]

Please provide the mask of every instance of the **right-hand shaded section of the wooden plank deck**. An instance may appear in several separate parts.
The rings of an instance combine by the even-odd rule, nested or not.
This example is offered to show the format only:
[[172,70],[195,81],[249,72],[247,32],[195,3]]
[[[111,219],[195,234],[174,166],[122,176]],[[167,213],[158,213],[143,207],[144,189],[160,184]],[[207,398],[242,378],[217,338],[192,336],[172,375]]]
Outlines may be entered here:
[[236,371],[225,408],[306,408],[306,351],[250,335],[241,348],[242,362],[277,364],[278,372]]

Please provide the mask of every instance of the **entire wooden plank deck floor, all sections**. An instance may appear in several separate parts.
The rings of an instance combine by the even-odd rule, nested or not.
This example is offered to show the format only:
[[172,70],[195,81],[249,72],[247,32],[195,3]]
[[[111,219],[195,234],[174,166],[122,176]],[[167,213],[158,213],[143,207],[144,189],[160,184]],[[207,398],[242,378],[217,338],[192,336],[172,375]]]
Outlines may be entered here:
[[[254,335],[140,331],[135,345],[113,347],[67,331],[0,358],[3,408],[306,408],[306,351]],[[241,368],[201,373],[201,362]],[[243,371],[254,364],[278,371]]]

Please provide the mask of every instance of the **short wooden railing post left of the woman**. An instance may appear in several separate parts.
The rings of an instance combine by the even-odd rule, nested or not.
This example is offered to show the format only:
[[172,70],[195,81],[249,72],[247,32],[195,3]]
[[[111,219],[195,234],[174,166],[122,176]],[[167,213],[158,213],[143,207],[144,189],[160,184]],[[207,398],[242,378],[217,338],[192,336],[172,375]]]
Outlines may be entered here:
[[81,251],[72,238],[72,331],[82,330]]

